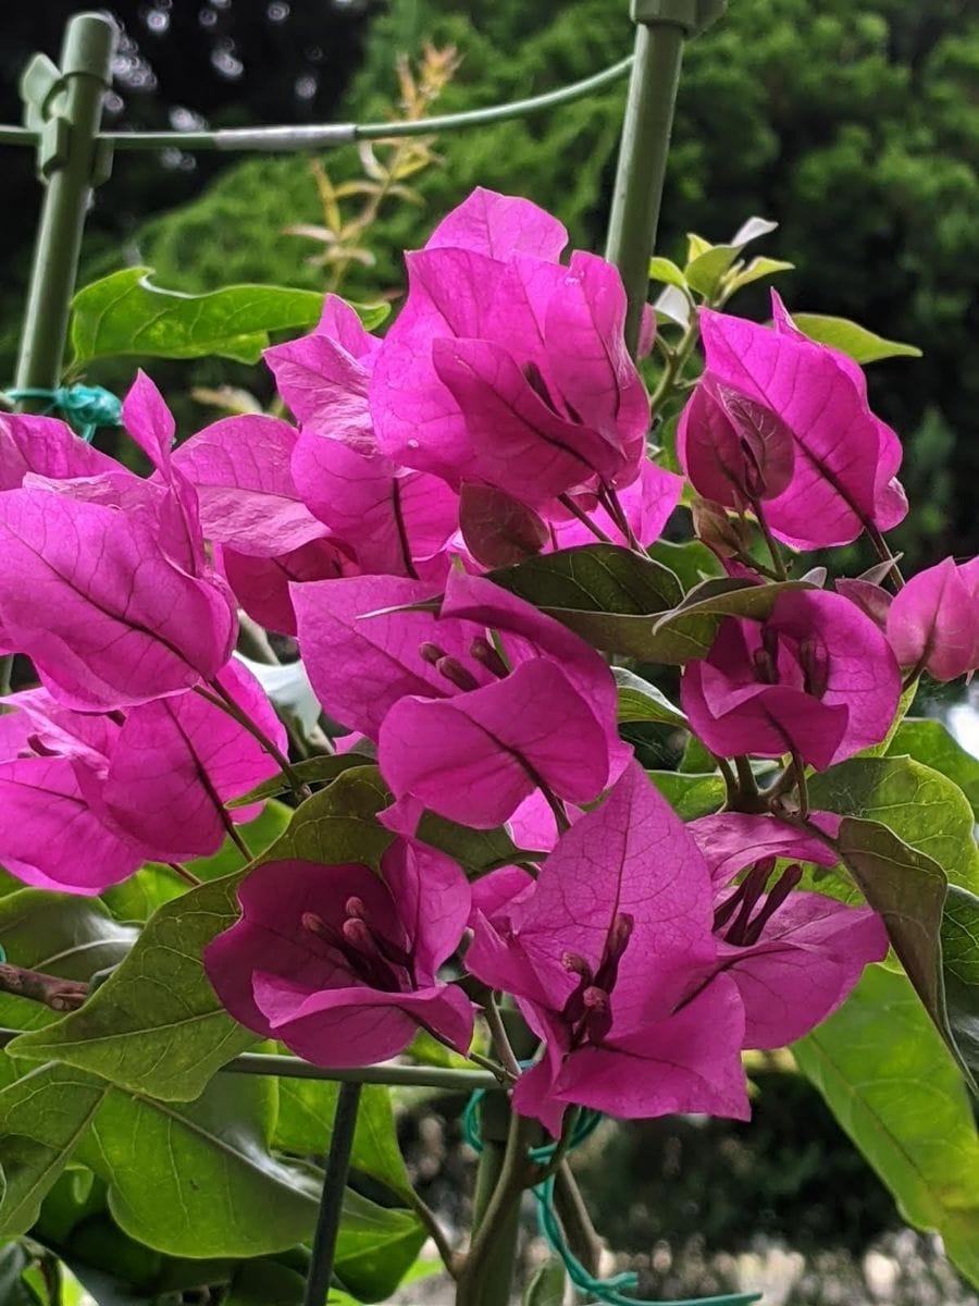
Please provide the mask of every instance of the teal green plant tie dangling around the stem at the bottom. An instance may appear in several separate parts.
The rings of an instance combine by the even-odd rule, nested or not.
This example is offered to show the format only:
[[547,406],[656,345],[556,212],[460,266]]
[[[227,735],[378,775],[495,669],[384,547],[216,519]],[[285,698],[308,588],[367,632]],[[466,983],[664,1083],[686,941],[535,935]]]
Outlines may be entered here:
[[[484,1096],[483,1089],[473,1093],[466,1102],[466,1110],[462,1113],[463,1138],[476,1153],[483,1151],[483,1139],[479,1134],[479,1104]],[[581,1110],[572,1127],[568,1151],[573,1151],[585,1139],[590,1138],[600,1122],[600,1111],[593,1111],[587,1107]],[[553,1158],[556,1148],[556,1143],[546,1143],[542,1147],[530,1148],[527,1155],[531,1161],[547,1165]],[[636,1288],[638,1284],[638,1275],[632,1269],[625,1269],[608,1279],[597,1279],[581,1264],[564,1238],[564,1230],[555,1211],[553,1185],[555,1177],[551,1174],[530,1190],[534,1194],[536,1204],[538,1228],[547,1246],[560,1258],[568,1277],[580,1293],[585,1293],[599,1302],[607,1302],[608,1306],[748,1306],[748,1302],[761,1299],[761,1293],[727,1293],[722,1297],[688,1297],[684,1301],[675,1302],[653,1301],[649,1297],[630,1297],[621,1292],[623,1288]]]

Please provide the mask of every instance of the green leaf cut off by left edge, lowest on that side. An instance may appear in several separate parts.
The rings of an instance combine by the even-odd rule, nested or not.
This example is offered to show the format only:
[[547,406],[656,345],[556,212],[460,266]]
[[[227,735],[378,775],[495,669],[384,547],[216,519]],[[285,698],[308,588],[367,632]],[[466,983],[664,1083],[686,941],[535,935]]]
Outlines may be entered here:
[[0,1091],[0,1237],[18,1237],[38,1218],[103,1096],[103,1084],[67,1066],[39,1066]]

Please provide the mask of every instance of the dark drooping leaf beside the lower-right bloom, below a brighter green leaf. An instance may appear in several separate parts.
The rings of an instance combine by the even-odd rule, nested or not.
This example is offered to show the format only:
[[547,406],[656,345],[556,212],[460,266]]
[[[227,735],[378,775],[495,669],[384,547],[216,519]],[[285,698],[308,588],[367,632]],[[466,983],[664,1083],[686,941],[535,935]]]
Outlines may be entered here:
[[846,816],[837,848],[888,935],[925,1011],[948,1029],[941,974],[941,913],[948,880],[940,866],[909,848],[886,825]]

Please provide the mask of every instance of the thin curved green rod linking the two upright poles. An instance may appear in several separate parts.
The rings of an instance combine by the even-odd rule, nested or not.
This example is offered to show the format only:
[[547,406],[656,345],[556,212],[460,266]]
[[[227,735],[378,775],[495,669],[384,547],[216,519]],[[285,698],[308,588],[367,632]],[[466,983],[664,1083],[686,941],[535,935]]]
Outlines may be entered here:
[[[508,104],[489,104],[470,108],[463,114],[440,114],[411,123],[324,123],[299,127],[234,127],[217,132],[101,132],[99,140],[108,141],[119,150],[292,150],[332,149],[352,141],[390,140],[401,136],[426,136],[429,132],[452,132],[457,128],[483,127],[487,123],[505,123],[525,118],[559,104],[583,99],[624,77],[632,68],[633,56],[627,55],[577,82],[557,90],[514,99]],[[37,145],[38,132],[27,127],[0,125],[0,145]]]

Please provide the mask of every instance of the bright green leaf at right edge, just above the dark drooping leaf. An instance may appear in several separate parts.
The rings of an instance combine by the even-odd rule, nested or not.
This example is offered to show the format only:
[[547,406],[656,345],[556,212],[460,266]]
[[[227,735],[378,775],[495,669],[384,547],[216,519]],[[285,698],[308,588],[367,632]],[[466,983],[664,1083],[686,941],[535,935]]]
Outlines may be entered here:
[[852,757],[809,781],[815,811],[877,820],[936,862],[949,879],[979,892],[974,818],[962,790],[910,757]]

